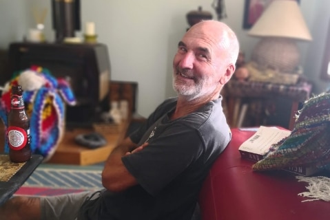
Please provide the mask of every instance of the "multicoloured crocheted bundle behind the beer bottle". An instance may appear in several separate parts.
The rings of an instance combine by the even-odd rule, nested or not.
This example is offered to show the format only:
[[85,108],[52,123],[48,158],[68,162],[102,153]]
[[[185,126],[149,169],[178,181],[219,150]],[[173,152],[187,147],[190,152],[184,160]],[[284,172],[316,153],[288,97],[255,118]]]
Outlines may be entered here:
[[[65,129],[65,102],[74,105],[76,100],[70,85],[54,78],[48,69],[32,66],[14,74],[0,100],[0,118],[8,126],[6,113],[10,111],[12,85],[21,85],[25,109],[30,116],[32,153],[41,154],[47,161],[54,154]],[[5,152],[8,152],[8,143]]]

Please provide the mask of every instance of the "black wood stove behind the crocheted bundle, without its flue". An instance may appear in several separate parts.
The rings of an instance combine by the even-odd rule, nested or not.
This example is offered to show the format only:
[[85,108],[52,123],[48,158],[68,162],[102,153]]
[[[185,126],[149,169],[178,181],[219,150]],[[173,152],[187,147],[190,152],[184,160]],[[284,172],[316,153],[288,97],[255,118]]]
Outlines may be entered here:
[[68,124],[90,124],[96,108],[108,98],[110,58],[101,43],[11,43],[8,49],[10,80],[14,72],[38,65],[56,78],[70,82],[77,104],[68,106]]

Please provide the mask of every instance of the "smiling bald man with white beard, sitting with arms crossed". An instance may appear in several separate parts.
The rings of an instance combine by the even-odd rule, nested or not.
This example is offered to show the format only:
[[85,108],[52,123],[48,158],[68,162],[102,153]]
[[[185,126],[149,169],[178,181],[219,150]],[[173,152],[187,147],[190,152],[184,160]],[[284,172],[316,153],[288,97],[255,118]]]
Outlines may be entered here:
[[231,140],[220,91],[235,71],[239,45],[225,23],[202,21],[173,61],[176,98],[162,102],[105,162],[104,189],[59,197],[14,197],[4,219],[192,219],[198,193]]

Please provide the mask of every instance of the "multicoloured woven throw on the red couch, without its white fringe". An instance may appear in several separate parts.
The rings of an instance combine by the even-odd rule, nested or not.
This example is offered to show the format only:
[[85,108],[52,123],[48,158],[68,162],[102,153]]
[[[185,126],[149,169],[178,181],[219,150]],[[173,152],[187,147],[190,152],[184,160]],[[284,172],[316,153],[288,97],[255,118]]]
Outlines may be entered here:
[[284,140],[271,146],[254,170],[274,170],[288,166],[330,168],[330,94],[307,100],[298,112],[296,125]]

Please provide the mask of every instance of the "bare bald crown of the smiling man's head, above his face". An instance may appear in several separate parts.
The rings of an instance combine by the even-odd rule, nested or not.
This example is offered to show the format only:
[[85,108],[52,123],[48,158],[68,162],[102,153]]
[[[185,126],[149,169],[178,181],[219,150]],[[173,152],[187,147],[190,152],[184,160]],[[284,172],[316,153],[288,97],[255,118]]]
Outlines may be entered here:
[[186,34],[213,42],[220,50],[227,52],[225,56],[229,63],[236,63],[239,52],[238,39],[225,23],[214,20],[201,21],[193,25]]

